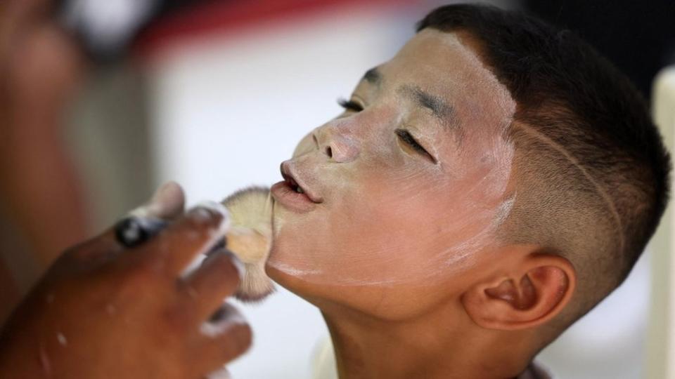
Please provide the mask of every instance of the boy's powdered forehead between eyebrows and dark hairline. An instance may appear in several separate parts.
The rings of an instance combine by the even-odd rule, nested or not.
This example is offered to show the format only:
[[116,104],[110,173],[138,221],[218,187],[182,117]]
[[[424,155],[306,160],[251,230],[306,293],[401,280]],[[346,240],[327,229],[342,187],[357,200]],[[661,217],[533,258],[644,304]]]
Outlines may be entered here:
[[413,85],[442,98],[461,124],[506,128],[515,101],[477,53],[468,34],[423,29],[378,67],[383,89]]

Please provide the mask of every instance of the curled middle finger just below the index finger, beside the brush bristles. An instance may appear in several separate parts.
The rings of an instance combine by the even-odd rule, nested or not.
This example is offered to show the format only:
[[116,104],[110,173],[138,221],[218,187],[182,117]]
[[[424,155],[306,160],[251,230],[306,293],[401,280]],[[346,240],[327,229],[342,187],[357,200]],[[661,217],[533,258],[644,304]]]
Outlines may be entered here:
[[197,300],[194,306],[200,319],[209,317],[224,298],[236,291],[243,270],[243,263],[238,258],[221,249],[211,253],[201,267],[185,279],[185,294]]

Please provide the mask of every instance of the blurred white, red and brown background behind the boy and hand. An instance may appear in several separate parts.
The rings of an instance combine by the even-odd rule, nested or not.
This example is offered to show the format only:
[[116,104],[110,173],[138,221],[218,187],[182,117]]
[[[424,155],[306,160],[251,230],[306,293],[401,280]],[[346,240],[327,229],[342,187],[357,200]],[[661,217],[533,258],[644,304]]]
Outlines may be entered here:
[[[413,35],[417,20],[449,1],[167,1],[156,20],[134,29],[142,24],[134,15],[160,9],[160,1],[139,4],[60,2],[59,22],[79,33],[89,54],[74,53],[65,69],[77,84],[64,93],[18,91],[24,119],[2,126],[6,305],[63,248],[115,222],[162,182],[180,182],[189,205],[281,180],[278,166],[297,141],[340,113],[335,100],[348,98],[366,69]],[[491,4],[576,30],[646,98],[657,72],[673,62],[671,0]],[[49,70],[20,72],[12,77],[20,88],[39,84],[39,75],[54,79]],[[666,335],[654,326],[648,347],[650,307],[667,309],[650,300],[650,288],[667,278],[654,279],[661,266],[650,264],[652,255],[648,249],[625,284],[540,354],[556,378],[664,377],[648,376],[657,371],[645,363]],[[328,335],[315,307],[283,288],[263,304],[239,307],[255,343],[231,364],[234,378],[311,377],[311,354]],[[8,309],[0,311],[3,319]]]

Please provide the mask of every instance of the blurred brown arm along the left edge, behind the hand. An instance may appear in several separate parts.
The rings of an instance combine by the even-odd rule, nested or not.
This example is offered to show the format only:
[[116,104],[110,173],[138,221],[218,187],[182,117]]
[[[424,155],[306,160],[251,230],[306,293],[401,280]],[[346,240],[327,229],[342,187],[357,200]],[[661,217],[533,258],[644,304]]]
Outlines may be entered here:
[[[84,65],[49,19],[48,6],[40,0],[0,5],[0,208],[30,243],[28,252],[9,251],[34,255],[34,272],[86,235],[82,190],[62,140],[63,114]],[[1,315],[22,288],[9,283],[13,267],[0,265],[7,288]]]

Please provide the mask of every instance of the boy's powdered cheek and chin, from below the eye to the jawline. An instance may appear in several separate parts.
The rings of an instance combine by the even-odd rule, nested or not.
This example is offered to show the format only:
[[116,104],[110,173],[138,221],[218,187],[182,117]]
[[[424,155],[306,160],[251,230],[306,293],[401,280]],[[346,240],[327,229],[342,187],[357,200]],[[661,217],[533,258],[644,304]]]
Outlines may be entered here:
[[281,213],[269,265],[314,284],[444,281],[489,244],[501,204],[506,180],[494,161],[470,167],[459,177],[415,164],[359,166],[330,206]]

